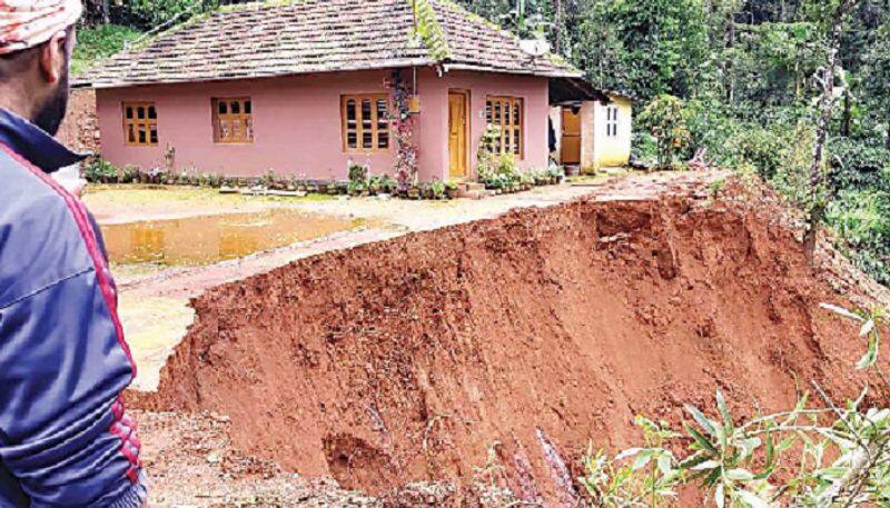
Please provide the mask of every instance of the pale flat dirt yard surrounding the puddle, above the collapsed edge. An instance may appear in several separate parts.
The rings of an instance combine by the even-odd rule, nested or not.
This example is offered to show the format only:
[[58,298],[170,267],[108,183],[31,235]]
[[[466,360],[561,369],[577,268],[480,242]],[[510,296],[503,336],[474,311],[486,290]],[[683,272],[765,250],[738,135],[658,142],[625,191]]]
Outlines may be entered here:
[[551,206],[597,192],[627,193],[633,189],[634,193],[652,193],[664,181],[675,178],[682,179],[678,176],[637,176],[624,187],[615,185],[621,180],[600,178],[589,180],[583,186],[543,187],[485,200],[453,201],[339,199],[327,196],[294,199],[220,195],[210,189],[196,188],[97,186],[88,191],[85,201],[100,226],[280,208],[364,219],[367,225],[211,266],[113,266],[115,279],[120,288],[121,321],[139,365],[140,375],[135,388],[152,390],[157,387],[164,361],[194,319],[189,299],[208,288],[322,252],[386,240],[411,231],[491,218],[513,208]]

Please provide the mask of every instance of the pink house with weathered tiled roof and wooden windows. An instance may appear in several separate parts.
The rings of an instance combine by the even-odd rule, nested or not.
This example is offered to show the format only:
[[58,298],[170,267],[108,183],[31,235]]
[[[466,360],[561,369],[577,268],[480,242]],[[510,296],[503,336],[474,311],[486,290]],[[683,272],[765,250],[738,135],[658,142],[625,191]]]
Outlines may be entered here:
[[[523,168],[548,162],[551,84],[580,78],[448,0],[222,8],[81,76],[117,166],[344,180],[390,173],[397,89],[422,180],[472,179],[486,126]],[[538,53],[535,56],[535,53]]]

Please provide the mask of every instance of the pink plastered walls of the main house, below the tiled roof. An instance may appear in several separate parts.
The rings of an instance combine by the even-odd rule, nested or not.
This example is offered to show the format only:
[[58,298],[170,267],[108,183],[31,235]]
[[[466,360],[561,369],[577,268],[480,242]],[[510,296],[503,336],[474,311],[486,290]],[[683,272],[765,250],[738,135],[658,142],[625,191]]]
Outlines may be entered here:
[[[300,178],[345,179],[347,160],[364,163],[366,156],[343,149],[340,94],[384,93],[389,71],[319,73],[260,80],[164,84],[102,89],[97,91],[97,111],[102,155],[117,166],[144,169],[165,166],[168,143],[176,148],[177,169],[195,167],[199,172],[227,176],[277,175]],[[411,72],[403,72],[406,78]],[[508,94],[525,98],[525,158],[523,167],[547,162],[547,80],[495,73],[452,72],[438,78],[434,70],[419,72],[422,113],[416,122],[421,179],[444,179],[448,171],[447,91],[471,92],[471,160],[485,129],[485,97]],[[254,142],[215,143],[211,97],[249,96],[253,101]],[[157,147],[125,143],[122,101],[154,101],[158,108]],[[394,149],[370,156],[374,173],[392,175]]]

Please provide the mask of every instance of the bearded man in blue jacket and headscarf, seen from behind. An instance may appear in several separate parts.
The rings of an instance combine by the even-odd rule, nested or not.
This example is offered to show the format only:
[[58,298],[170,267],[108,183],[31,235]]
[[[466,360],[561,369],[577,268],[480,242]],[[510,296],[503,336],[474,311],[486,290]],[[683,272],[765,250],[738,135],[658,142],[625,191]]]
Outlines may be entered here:
[[49,173],[80,0],[0,0],[0,507],[146,502],[102,240]]

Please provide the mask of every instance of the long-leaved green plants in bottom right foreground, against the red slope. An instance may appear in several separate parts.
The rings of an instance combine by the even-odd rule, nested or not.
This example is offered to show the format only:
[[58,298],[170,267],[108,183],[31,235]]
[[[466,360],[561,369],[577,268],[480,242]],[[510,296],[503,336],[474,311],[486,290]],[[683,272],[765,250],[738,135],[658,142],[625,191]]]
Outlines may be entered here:
[[[822,307],[856,321],[867,341],[860,370],[878,366],[881,328],[888,310],[852,312]],[[803,394],[784,412],[752,418],[732,415],[718,389],[709,411],[686,405],[682,432],[639,417],[644,446],[614,456],[591,451],[584,459],[591,506],[675,506],[679,489],[691,486],[704,506],[887,506],[890,501],[890,409],[866,407],[868,387],[846,405],[837,404],[813,380],[822,405]]]

